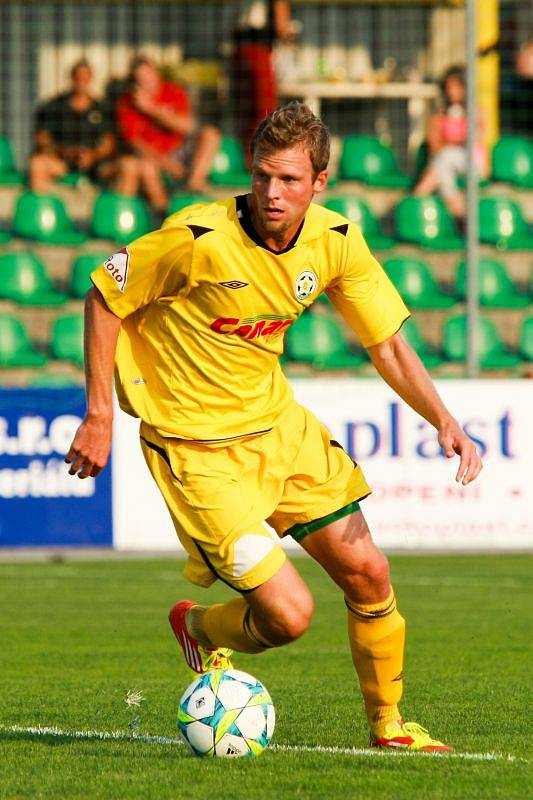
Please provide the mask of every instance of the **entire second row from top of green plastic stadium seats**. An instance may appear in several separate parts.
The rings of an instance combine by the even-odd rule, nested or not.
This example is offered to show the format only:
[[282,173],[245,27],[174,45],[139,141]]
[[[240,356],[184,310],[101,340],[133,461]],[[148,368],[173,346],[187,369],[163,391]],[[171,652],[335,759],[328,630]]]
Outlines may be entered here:
[[[208,198],[176,195],[169,208],[173,214],[193,202]],[[404,197],[395,209],[396,240],[383,235],[379,220],[359,197],[332,197],[325,206],[357,223],[371,248],[387,250],[396,242],[409,242],[431,250],[465,249],[453,217],[440,197]],[[501,250],[531,250],[533,235],[518,203],[502,197],[484,197],[479,202],[480,241]],[[98,195],[89,225],[89,234],[76,228],[63,201],[56,195],[23,192],[17,199],[13,233],[23,239],[43,244],[81,245],[89,235],[111,239],[121,245],[152,230],[145,203],[138,197],[124,197],[112,192]],[[11,234],[0,232],[0,243]]]

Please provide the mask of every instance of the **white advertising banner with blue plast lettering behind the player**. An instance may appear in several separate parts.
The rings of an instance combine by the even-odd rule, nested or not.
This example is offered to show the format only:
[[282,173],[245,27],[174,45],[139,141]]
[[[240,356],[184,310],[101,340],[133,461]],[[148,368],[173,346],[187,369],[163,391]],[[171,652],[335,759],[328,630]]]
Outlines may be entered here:
[[[362,508],[386,549],[486,550],[533,547],[533,382],[445,380],[437,388],[484,461],[468,486],[458,457],[382,381],[294,379],[296,399],[361,464],[372,495]],[[114,544],[176,548],[176,536],[138,444],[138,422],[117,414]]]

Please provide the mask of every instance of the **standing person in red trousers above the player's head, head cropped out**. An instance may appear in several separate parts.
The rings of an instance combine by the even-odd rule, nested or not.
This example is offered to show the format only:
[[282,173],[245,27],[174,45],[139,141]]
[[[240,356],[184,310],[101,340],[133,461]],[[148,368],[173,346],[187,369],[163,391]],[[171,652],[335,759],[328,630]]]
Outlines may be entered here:
[[249,157],[261,120],[277,105],[272,48],[292,41],[294,24],[288,0],[246,0],[233,34],[232,84],[239,136]]

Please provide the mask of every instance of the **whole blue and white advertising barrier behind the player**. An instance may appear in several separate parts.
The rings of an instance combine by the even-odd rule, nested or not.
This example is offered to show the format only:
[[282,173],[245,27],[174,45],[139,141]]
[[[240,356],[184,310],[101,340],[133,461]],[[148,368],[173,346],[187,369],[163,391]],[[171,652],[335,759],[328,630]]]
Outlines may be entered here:
[[[296,398],[361,462],[374,490],[363,509],[380,546],[533,548],[533,382],[438,382],[484,457],[481,477],[466,487],[454,480],[458,459],[442,455],[431,426],[381,381],[291,383]],[[117,412],[113,459],[96,481],[67,475],[62,459],[83,409],[81,390],[0,390],[0,547],[176,551],[136,420]]]

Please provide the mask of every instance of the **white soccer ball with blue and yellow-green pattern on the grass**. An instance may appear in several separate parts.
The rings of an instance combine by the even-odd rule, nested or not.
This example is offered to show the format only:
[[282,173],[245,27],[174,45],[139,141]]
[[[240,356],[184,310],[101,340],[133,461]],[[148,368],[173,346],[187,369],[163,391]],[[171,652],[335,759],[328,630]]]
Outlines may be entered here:
[[257,756],[274,733],[276,715],[257,678],[238,669],[200,675],[180,700],[180,733],[194,755]]

